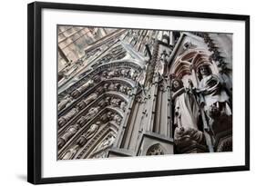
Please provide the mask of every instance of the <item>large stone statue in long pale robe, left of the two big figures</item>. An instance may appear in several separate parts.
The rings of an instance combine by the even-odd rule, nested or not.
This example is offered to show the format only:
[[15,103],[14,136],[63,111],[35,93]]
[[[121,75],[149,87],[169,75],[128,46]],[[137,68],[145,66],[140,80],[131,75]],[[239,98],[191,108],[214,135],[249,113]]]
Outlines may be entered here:
[[187,142],[204,142],[203,133],[199,131],[198,121],[200,108],[196,98],[188,89],[185,89],[181,80],[172,82],[174,101],[174,141],[179,147],[186,146]]

